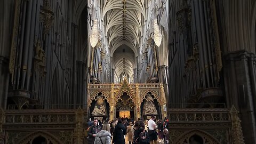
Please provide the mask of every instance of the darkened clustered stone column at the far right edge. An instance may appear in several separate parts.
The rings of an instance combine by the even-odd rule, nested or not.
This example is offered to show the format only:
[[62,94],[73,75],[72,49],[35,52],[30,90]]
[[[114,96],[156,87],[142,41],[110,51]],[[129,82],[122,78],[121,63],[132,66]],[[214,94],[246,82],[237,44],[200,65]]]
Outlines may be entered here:
[[256,142],[255,58],[253,53],[237,51],[223,60],[227,107],[234,105],[240,111],[246,143]]

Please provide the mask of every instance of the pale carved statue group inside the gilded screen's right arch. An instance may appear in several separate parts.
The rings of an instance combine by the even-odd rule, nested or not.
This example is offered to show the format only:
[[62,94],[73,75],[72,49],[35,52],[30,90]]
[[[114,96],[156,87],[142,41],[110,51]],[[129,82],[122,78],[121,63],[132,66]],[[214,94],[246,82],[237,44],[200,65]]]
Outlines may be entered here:
[[154,100],[151,97],[151,94],[148,94],[146,97],[146,101],[143,107],[143,114],[144,115],[157,115],[156,106],[154,104]]

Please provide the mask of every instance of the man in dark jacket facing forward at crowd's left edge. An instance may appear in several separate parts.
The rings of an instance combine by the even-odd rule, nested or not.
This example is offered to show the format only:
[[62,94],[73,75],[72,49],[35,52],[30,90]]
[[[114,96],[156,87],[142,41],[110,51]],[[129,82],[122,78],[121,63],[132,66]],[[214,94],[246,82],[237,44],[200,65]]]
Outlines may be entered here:
[[101,131],[101,127],[98,125],[98,119],[94,118],[93,125],[88,130],[88,144],[93,144],[96,134]]

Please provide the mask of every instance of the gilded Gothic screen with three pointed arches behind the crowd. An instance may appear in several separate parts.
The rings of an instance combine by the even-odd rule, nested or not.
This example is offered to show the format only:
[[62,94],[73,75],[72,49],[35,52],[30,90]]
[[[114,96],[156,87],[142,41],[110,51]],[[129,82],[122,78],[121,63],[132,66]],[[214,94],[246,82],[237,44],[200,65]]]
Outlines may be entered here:
[[[162,90],[161,90],[162,89]],[[90,84],[88,86],[88,107],[90,108],[91,103],[97,97],[97,94],[101,92],[107,102],[109,103],[109,113],[110,119],[115,119],[116,114],[116,103],[118,99],[121,99],[121,96],[124,92],[127,95],[130,95],[130,100],[134,103],[134,118],[137,119],[141,117],[141,102],[143,99],[146,99],[145,96],[147,92],[151,92],[154,95],[154,99],[159,103],[159,108],[161,110],[161,117],[167,116],[167,110],[162,106],[162,103],[166,105],[166,98],[164,95],[163,84],[129,84],[126,80],[122,84]],[[127,101],[126,100],[126,101]],[[161,108],[162,107],[162,108]],[[164,111],[165,110],[165,111]],[[166,114],[165,114],[166,113]]]

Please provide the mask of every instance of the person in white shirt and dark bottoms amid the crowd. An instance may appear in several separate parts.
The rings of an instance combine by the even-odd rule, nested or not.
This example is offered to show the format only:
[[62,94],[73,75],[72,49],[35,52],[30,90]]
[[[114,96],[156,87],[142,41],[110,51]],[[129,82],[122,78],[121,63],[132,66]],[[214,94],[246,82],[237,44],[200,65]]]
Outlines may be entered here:
[[148,121],[148,135],[150,139],[150,144],[157,144],[157,132],[156,132],[156,124],[155,124],[156,117],[154,115]]

